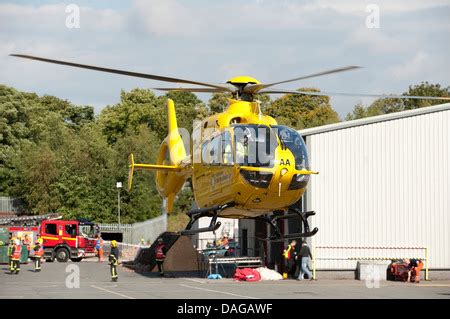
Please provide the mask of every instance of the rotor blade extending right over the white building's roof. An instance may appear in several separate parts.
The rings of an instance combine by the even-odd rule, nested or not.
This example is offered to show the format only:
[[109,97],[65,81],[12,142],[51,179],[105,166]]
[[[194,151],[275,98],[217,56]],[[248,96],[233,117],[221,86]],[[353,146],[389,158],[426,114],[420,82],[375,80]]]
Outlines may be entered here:
[[340,93],[340,92],[310,92],[293,90],[263,90],[258,94],[300,94],[313,96],[355,96],[355,97],[376,97],[381,99],[414,99],[414,100],[450,100],[450,96],[416,96],[416,95],[395,95],[395,94],[364,94],[364,93]]

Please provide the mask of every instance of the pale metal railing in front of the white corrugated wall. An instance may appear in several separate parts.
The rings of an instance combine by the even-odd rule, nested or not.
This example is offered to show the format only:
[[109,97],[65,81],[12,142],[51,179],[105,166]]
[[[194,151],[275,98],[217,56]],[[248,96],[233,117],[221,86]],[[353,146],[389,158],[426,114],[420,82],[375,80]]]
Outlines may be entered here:
[[[429,280],[429,251],[427,247],[414,246],[313,246],[312,271],[313,278],[316,279],[317,262],[322,260],[329,261],[359,261],[359,260],[398,260],[398,259],[419,259],[425,264],[425,280]],[[328,251],[325,252],[324,251]],[[365,253],[361,254],[361,251]],[[386,251],[391,251],[386,254]],[[415,251],[421,252],[422,256],[417,254],[399,251]],[[332,252],[332,253],[331,253]],[[394,252],[394,253],[392,253]],[[328,254],[327,254],[328,253]],[[323,255],[322,255],[323,254]]]

